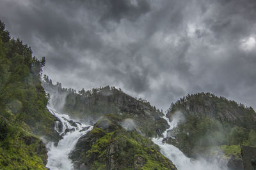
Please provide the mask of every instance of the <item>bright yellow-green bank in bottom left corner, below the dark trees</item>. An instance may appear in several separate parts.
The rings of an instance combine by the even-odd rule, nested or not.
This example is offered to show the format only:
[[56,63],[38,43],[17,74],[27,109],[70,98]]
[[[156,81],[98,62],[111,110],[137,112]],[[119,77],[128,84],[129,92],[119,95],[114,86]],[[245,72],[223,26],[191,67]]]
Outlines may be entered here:
[[44,143],[19,125],[1,120],[0,169],[45,169]]

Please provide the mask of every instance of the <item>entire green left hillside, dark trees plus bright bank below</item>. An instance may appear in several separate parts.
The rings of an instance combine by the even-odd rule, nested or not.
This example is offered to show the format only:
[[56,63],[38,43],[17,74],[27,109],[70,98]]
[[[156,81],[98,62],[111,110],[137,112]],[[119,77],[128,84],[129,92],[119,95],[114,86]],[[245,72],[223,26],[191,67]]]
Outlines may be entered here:
[[45,146],[32,134],[54,136],[40,82],[44,65],[0,21],[0,169],[45,169]]

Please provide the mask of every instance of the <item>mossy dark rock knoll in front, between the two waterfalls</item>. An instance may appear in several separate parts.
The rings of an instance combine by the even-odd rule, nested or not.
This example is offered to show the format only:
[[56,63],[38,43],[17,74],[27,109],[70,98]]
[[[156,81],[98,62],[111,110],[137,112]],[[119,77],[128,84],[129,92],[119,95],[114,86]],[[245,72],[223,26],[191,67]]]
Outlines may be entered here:
[[70,153],[75,168],[176,169],[150,139],[125,131],[121,124],[121,118],[106,115],[82,136]]

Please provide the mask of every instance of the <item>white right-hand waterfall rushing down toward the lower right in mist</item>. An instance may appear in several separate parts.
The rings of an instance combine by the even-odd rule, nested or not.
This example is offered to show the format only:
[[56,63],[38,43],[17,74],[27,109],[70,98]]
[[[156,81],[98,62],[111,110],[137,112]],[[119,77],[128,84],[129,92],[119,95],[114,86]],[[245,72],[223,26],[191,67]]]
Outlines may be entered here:
[[[176,117],[173,117],[172,122],[169,122],[168,118],[163,117],[165,120],[167,120],[168,124],[170,125],[170,128],[168,130],[173,129],[174,127],[177,127],[177,124],[180,120],[179,113],[176,115]],[[164,138],[167,136],[167,131],[163,132]],[[170,159],[173,164],[177,167],[179,170],[227,170],[227,165],[223,164],[223,162],[218,162],[217,160],[212,160],[209,162],[205,159],[196,159],[192,160],[189,159],[182,153],[178,148],[176,148],[173,145],[169,145],[167,143],[163,143],[164,138],[153,138],[152,141],[156,143],[161,149],[161,153]]]

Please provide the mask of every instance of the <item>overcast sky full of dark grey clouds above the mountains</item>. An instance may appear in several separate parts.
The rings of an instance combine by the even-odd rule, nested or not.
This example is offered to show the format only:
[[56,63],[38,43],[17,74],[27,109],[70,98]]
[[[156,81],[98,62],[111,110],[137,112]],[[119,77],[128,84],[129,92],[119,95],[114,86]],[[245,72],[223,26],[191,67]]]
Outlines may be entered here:
[[121,87],[166,109],[212,92],[256,108],[255,0],[1,0],[12,37],[63,87]]

